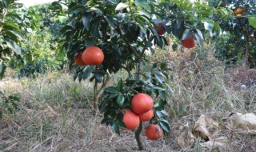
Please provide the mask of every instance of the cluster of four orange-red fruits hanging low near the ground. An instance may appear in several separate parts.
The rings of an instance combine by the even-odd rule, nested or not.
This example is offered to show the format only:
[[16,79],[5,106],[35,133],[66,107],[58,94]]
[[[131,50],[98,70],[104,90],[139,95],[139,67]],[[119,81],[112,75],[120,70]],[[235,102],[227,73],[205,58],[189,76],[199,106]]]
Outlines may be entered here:
[[[122,118],[122,122],[125,123],[128,130],[134,130],[139,125],[139,122],[147,122],[153,118],[154,100],[149,95],[136,94],[130,104],[131,109],[124,110],[125,113]],[[158,125],[150,124],[146,128],[146,137],[150,140],[162,138],[162,129],[159,130]]]

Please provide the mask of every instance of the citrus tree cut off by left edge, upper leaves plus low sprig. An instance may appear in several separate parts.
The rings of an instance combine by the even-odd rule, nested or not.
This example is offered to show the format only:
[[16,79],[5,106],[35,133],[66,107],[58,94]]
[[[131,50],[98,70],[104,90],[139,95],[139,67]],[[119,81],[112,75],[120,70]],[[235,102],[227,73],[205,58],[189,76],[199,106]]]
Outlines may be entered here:
[[[26,22],[22,21],[21,15],[17,12],[20,8],[22,4],[14,0],[0,1],[0,79],[3,78],[10,59],[21,58],[22,27],[26,25]],[[6,96],[0,90],[0,119],[3,114],[12,114],[18,109],[18,100],[18,94]]]

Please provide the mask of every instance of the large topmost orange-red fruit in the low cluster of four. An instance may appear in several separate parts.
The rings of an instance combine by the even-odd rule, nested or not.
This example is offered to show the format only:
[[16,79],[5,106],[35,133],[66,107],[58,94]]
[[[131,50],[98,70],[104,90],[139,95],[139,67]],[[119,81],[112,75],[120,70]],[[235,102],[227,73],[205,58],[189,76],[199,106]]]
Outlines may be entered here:
[[152,110],[154,106],[154,100],[147,94],[137,94],[131,99],[131,109],[136,114],[144,114],[149,110]]

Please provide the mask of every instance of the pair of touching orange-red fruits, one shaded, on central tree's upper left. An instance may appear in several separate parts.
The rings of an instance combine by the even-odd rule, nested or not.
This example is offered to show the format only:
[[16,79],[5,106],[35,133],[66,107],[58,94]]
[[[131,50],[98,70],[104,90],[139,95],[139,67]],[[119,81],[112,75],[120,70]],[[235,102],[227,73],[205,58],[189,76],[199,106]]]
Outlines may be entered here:
[[79,52],[74,57],[74,62],[78,66],[97,66],[102,64],[104,54],[97,46],[89,46],[83,52]]

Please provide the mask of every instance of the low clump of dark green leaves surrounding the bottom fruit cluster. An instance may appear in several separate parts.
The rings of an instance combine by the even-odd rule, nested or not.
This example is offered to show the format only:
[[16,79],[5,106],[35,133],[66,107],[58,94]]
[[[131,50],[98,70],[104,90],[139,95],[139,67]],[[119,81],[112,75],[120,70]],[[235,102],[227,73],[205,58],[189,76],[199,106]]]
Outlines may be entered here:
[[139,93],[154,96],[154,118],[151,123],[159,123],[166,132],[170,132],[169,122],[166,121],[168,113],[164,110],[167,98],[173,94],[166,83],[168,69],[165,63],[155,63],[152,71],[142,73],[143,79],[129,77],[126,81],[119,80],[117,86],[107,87],[101,96],[100,111],[104,113],[102,123],[114,127],[116,133],[119,128],[126,127],[122,122],[123,110],[130,109],[130,101]]

